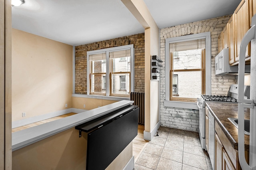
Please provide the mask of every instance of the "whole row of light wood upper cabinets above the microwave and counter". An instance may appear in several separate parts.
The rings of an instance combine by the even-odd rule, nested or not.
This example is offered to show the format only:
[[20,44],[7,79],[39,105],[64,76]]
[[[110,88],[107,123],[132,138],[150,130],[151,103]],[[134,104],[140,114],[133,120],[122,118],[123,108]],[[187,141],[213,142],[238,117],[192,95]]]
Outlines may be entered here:
[[[229,48],[229,64],[238,65],[242,38],[249,30],[251,18],[256,14],[256,0],[242,0],[218,37],[219,52]],[[246,47],[246,64],[250,64],[250,43]]]

